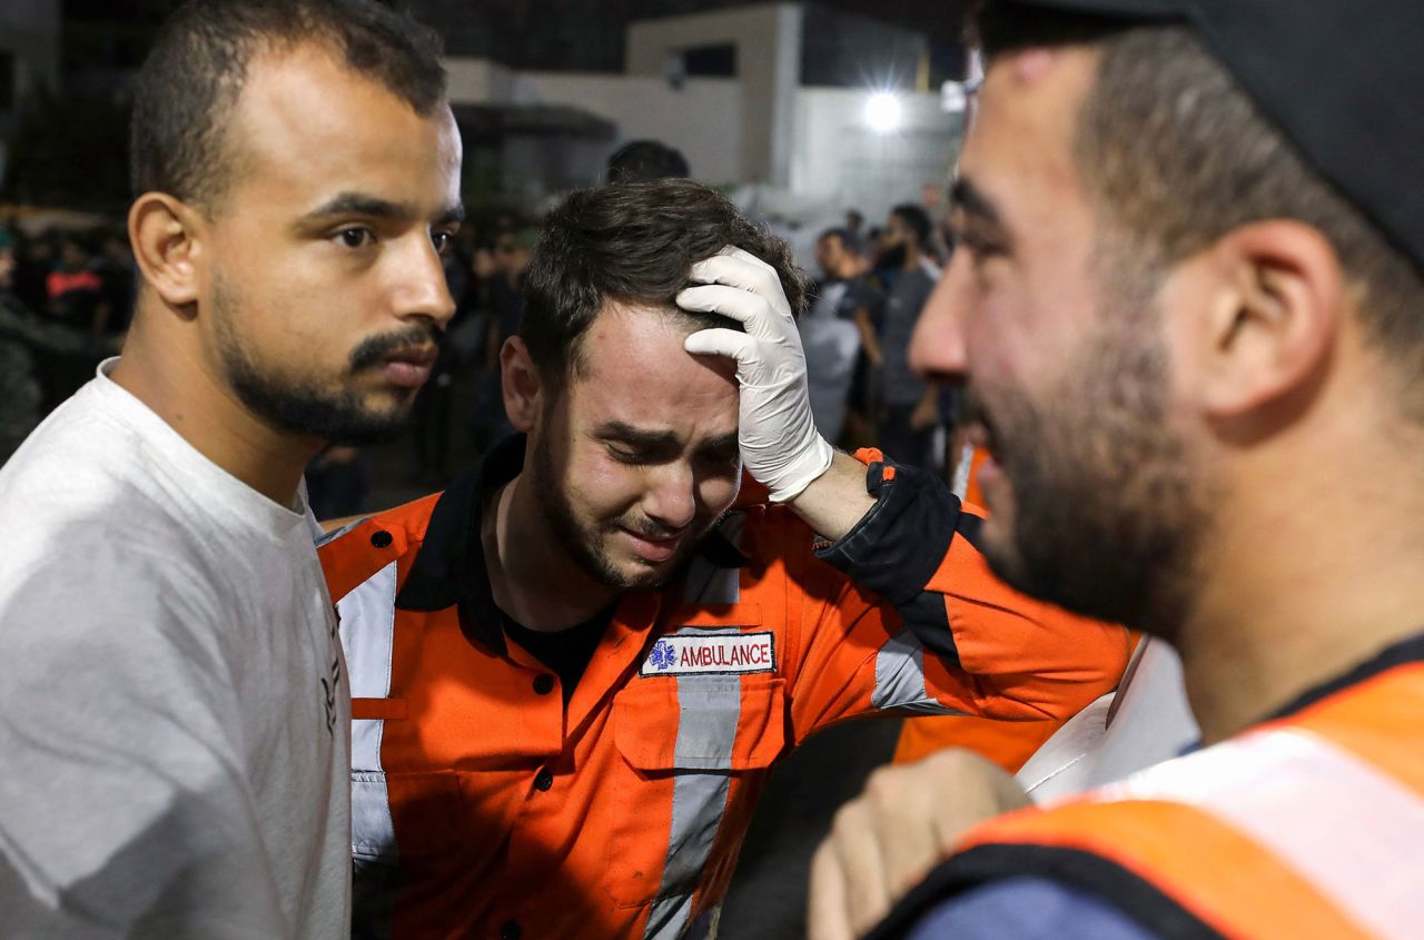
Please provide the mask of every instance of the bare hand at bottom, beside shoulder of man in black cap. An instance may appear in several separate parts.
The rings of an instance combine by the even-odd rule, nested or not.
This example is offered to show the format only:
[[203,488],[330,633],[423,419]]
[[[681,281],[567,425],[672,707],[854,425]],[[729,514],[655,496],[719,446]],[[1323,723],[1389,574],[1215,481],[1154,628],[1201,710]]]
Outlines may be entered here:
[[810,869],[810,940],[854,940],[991,816],[1031,806],[1008,773],[971,751],[881,768],[836,813]]

